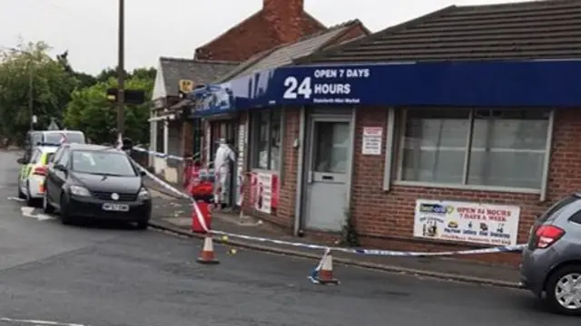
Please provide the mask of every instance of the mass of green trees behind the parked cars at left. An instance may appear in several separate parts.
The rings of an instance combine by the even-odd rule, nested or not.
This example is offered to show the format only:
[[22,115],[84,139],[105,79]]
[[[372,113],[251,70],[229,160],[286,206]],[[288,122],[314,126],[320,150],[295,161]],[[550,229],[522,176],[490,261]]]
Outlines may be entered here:
[[[112,68],[96,76],[75,72],[68,51],[53,59],[49,50],[43,42],[0,49],[0,140],[22,144],[32,120],[32,90],[32,114],[38,119],[34,129],[46,129],[55,119],[67,129],[83,130],[95,142],[114,141],[116,106],[106,100],[106,89],[117,87],[117,72]],[[155,73],[153,68],[126,73],[125,88],[143,90],[151,97]],[[125,136],[148,142],[149,110],[147,103],[126,106]]]

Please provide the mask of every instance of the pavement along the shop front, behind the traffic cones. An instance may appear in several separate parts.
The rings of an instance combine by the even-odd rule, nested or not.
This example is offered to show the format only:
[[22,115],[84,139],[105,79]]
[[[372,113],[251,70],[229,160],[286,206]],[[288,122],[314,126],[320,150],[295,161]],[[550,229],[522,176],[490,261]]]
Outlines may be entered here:
[[[152,221],[153,227],[162,228],[181,235],[202,237],[192,234],[192,208],[189,201],[175,197],[172,192],[147,179],[147,186],[155,189],[162,196],[162,201],[156,207],[158,214]],[[172,187],[176,187],[172,185]],[[266,237],[275,240],[298,242],[312,245],[335,244],[321,242],[316,238],[296,237],[284,234],[267,223],[251,216],[242,219],[238,214],[212,213],[212,229],[230,234]],[[216,236],[215,241],[275,254],[288,254],[304,258],[319,259],[321,251],[298,246],[277,245],[264,241],[240,240],[233,237],[223,240]],[[454,257],[386,257],[362,254],[333,253],[336,263],[354,265],[370,269],[394,273],[409,273],[440,279],[468,283],[490,284],[503,287],[519,288],[518,270],[513,266],[498,264],[483,264]]]

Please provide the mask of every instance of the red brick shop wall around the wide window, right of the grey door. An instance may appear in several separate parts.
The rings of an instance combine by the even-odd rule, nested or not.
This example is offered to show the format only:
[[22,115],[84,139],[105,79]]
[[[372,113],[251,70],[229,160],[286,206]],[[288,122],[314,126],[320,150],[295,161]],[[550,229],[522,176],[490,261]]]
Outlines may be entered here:
[[[517,243],[527,241],[527,234],[535,216],[547,209],[556,199],[581,187],[581,112],[557,110],[553,133],[552,160],[549,172],[547,202],[540,203],[538,195],[471,191],[437,187],[392,186],[389,192],[383,189],[385,157],[362,156],[363,127],[387,125],[387,109],[364,108],[358,111],[355,139],[355,168],[352,184],[352,214],[363,243],[382,245],[393,249],[418,250],[458,245],[413,238],[414,208],[417,198],[481,201],[488,204],[521,207]],[[384,133],[384,144],[386,141]],[[382,153],[384,154],[384,153]],[[393,165],[397,167],[396,164]],[[460,245],[468,247],[470,245]],[[484,259],[510,259],[514,255],[489,255]]]

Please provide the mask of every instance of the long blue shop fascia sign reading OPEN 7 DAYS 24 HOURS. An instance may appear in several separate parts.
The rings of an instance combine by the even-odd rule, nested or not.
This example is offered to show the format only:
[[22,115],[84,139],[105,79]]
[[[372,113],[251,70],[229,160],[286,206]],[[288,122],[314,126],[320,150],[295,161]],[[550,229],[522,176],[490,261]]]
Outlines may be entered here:
[[287,66],[204,96],[202,116],[278,105],[581,107],[581,61]]

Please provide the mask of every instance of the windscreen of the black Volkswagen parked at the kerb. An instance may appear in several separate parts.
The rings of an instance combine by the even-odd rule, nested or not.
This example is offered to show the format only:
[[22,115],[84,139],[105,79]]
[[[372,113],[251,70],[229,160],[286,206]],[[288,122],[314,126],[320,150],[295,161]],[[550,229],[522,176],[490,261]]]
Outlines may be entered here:
[[76,172],[118,177],[137,176],[132,162],[123,152],[74,150],[71,163],[71,169]]

